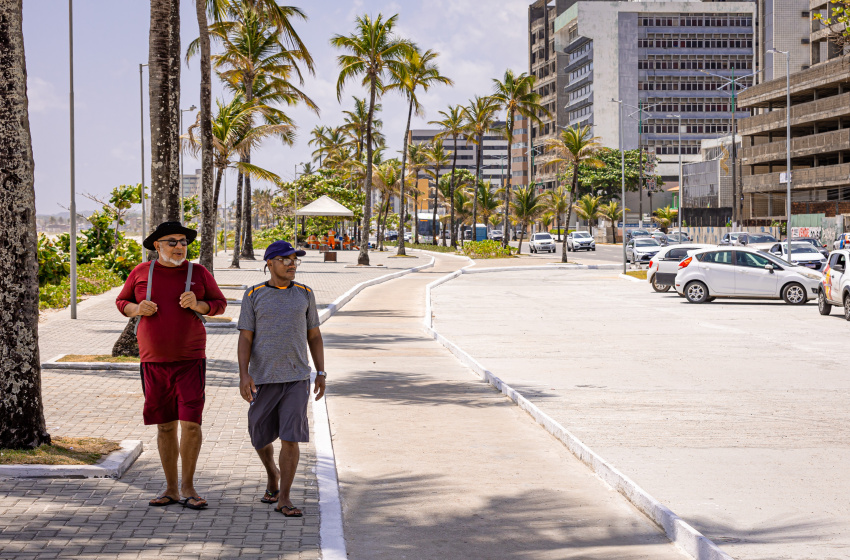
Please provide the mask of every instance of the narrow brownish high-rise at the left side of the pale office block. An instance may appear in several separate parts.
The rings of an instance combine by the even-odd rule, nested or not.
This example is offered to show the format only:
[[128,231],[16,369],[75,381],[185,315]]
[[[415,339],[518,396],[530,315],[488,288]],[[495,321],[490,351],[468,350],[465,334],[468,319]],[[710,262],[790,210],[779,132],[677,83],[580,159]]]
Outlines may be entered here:
[[[538,115],[542,124],[529,126],[530,137],[528,165],[533,153],[547,139],[555,138],[567,120],[566,91],[568,64],[567,54],[555,46],[555,20],[564,13],[571,0],[536,0],[528,7],[528,71],[536,76],[535,91],[540,95],[540,104],[549,114]],[[557,183],[552,166],[535,162],[529,167],[533,180],[543,189],[551,189]]]

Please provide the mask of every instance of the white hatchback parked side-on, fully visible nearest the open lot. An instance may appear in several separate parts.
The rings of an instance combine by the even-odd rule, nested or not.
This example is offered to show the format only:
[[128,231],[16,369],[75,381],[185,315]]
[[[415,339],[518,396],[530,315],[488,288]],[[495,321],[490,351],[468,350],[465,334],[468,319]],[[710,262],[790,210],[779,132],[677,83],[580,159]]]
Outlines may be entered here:
[[718,297],[783,299],[802,305],[818,293],[823,274],[745,247],[703,249],[679,263],[676,292],[691,303]]

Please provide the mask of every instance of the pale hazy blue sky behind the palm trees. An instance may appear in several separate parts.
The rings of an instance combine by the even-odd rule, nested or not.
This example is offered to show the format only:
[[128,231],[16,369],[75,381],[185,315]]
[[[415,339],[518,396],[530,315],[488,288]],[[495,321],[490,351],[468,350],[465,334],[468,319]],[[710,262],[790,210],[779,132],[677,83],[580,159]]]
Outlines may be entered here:
[[[529,0],[314,0],[288,2],[304,10],[308,20],[296,29],[313,55],[316,74],[305,76],[303,91],[319,106],[316,115],[303,106],[287,108],[298,131],[294,146],[268,140],[252,154],[252,163],[284,179],[311,159],[307,145],[316,125],[342,124],[342,111],[362,97],[359,84],[349,82],[341,101],[336,96],[340,52],[330,45],[336,34],[354,30],[358,15],[398,14],[397,34],[423,50],[440,53],[440,72],[454,86],[437,86],[421,95],[423,118],[414,116],[413,128],[427,127],[449,105],[466,104],[474,95],[492,92],[493,78],[506,69],[528,70],[527,7]],[[74,113],[77,208],[94,210],[98,204],[84,194],[108,197],[113,187],[141,181],[139,64],[147,61],[150,4],[134,0],[76,0],[74,2]],[[181,0],[181,48],[197,37],[194,0]],[[30,129],[35,158],[36,209],[55,214],[70,204],[70,103],[68,3],[62,0],[24,2],[24,46]],[[148,80],[144,69],[145,182],[150,184],[150,128]],[[213,79],[215,99],[225,94]],[[200,71],[192,60],[181,70],[181,108],[198,104]],[[388,156],[401,148],[407,104],[398,94],[382,100]],[[183,126],[195,120],[184,113]],[[192,173],[198,161],[185,159]],[[227,177],[227,197],[235,192],[235,174]],[[257,188],[268,187],[259,183]]]

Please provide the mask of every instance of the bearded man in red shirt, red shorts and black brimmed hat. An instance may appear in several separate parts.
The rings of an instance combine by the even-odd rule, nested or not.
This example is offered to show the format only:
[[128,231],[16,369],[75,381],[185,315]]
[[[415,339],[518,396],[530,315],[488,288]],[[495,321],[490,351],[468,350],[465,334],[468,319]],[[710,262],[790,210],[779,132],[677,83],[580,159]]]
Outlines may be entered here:
[[[206,382],[207,333],[201,315],[223,313],[227,300],[206,268],[198,264],[190,268],[186,261],[186,247],[196,236],[195,230],[180,222],[157,226],[143,245],[156,251],[158,258],[133,269],[115,302],[127,317],[139,317],[136,336],[145,395],[143,416],[145,425],[157,425],[166,482],[165,492],[151,500],[151,506],[207,506],[194,486]],[[183,466],[179,491],[178,456]]]

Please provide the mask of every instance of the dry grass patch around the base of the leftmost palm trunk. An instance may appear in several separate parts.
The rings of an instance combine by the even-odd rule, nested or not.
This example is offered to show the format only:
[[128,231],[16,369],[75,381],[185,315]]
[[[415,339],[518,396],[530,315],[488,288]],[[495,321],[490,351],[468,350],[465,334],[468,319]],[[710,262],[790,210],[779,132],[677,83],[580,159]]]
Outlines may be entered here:
[[121,449],[103,438],[51,438],[50,445],[35,449],[0,449],[0,465],[94,465],[101,457]]

